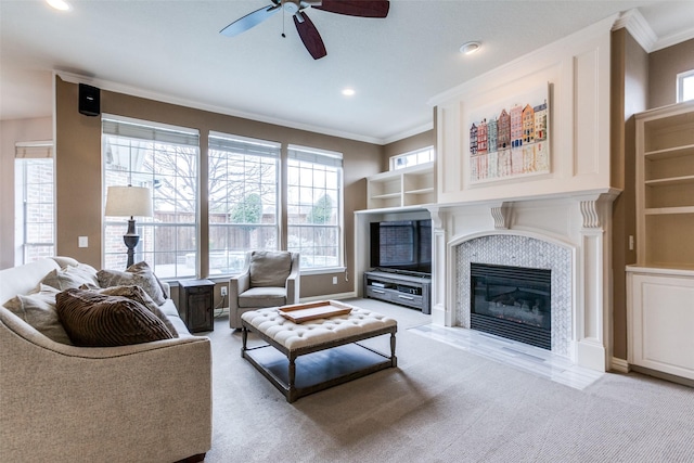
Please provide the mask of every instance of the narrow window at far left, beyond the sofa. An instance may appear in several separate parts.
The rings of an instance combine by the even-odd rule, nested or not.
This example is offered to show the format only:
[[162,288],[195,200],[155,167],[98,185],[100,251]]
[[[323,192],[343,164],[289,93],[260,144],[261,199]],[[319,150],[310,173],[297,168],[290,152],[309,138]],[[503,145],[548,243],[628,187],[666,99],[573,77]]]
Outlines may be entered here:
[[55,255],[53,143],[17,143],[14,163],[15,265]]

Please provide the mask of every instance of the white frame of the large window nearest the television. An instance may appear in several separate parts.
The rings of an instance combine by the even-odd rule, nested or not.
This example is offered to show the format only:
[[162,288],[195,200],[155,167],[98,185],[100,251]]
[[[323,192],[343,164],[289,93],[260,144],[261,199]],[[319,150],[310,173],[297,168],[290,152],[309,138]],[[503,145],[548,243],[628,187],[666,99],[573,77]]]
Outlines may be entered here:
[[[306,274],[306,275],[310,275],[310,274],[324,274],[324,273],[337,273],[337,272],[345,272],[346,271],[346,267],[345,267],[345,205],[344,205],[344,198],[345,198],[345,172],[344,172],[344,163],[343,163],[343,154],[338,153],[338,152],[334,152],[334,151],[326,151],[326,150],[320,150],[320,149],[316,149],[316,147],[310,147],[310,146],[301,146],[301,145],[296,145],[296,144],[290,144],[287,146],[287,170],[292,169],[292,167],[288,166],[290,162],[292,160],[303,160],[303,162],[308,162],[308,163],[314,163],[314,164],[322,164],[322,165],[326,165],[326,166],[332,166],[332,167],[338,167],[338,177],[339,177],[339,185],[337,185],[337,194],[338,194],[338,198],[337,198],[337,223],[334,226],[335,229],[337,230],[337,235],[338,235],[338,242],[336,244],[337,246],[337,263],[335,266],[326,266],[326,267],[301,267],[300,268],[300,273],[301,274]],[[288,196],[288,190],[290,190],[290,180],[288,180],[288,172],[287,172],[287,184],[284,188],[284,191],[286,192],[287,196]],[[287,208],[288,208],[288,198],[287,198]],[[285,213],[285,216],[287,217],[286,219],[286,227],[287,227],[287,241],[288,241],[288,228],[293,227],[293,223],[290,223],[288,220],[288,211]],[[290,248],[288,242],[287,242],[287,250],[293,250],[292,248]],[[304,258],[301,258],[304,259]]]

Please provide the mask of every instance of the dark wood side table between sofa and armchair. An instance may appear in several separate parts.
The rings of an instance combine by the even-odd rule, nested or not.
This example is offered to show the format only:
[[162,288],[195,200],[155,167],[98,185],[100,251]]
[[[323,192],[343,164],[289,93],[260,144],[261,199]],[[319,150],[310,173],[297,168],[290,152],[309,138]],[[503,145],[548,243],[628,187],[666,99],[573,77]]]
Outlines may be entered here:
[[188,330],[191,333],[215,330],[215,283],[209,280],[179,280],[178,285],[178,312]]

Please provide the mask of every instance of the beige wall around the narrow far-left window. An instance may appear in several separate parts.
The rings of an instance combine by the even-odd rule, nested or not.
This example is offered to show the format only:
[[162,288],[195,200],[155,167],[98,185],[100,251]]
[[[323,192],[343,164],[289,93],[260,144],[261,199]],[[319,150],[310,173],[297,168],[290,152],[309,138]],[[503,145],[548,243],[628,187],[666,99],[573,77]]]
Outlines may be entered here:
[[0,269],[14,266],[14,146],[53,140],[53,119],[0,121]]

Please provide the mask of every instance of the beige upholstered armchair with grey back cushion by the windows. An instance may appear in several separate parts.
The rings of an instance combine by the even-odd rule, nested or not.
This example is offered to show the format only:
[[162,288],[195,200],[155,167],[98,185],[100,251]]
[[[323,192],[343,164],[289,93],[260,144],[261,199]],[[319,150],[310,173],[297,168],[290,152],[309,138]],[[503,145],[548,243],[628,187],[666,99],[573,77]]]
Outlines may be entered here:
[[250,250],[236,276],[229,280],[229,326],[241,329],[248,310],[299,301],[299,253]]

